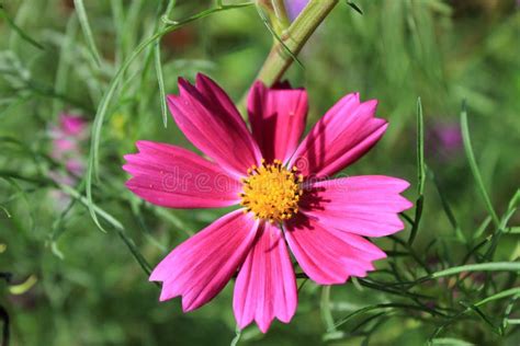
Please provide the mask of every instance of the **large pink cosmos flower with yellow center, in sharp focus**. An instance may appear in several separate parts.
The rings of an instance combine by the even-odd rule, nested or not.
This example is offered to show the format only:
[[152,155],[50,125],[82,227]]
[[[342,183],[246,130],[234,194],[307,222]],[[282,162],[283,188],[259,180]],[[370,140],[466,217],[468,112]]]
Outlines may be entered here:
[[240,207],[174,249],[150,275],[160,300],[182,296],[184,311],[212,300],[237,275],[233,307],[240,328],[256,321],[267,332],[287,323],[297,304],[293,253],[323,285],[364,277],[385,253],[363,237],[404,228],[411,204],[403,180],[364,175],[326,180],[369,151],[386,130],[375,100],[342,97],[305,139],[307,94],[289,84],[256,82],[249,93],[249,131],[227,94],[210,78],[179,80],[168,103],[179,128],[208,160],[185,149],[138,141],[125,155],[126,186],[169,208]]

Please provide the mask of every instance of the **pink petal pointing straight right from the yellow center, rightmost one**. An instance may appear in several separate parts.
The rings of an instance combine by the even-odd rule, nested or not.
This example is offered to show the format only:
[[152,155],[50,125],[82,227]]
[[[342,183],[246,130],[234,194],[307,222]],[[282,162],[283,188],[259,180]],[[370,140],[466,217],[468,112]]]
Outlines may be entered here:
[[351,176],[310,184],[299,207],[324,227],[366,237],[383,237],[405,228],[398,214],[412,204],[399,193],[406,181],[383,176]]

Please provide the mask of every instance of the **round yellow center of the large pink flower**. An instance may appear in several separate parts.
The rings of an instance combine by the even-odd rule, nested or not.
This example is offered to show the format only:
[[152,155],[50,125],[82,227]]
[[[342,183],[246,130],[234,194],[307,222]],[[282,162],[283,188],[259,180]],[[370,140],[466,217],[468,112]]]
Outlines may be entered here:
[[282,161],[262,164],[248,170],[248,177],[242,178],[244,189],[240,205],[245,212],[252,211],[255,218],[281,222],[298,212],[298,200],[303,194],[301,183],[303,175],[282,166]]

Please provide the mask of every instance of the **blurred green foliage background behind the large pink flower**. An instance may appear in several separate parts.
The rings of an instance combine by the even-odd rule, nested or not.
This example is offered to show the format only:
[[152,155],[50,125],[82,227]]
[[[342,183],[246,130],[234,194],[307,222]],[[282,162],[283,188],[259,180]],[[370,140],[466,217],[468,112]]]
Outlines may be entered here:
[[[90,124],[115,72],[155,32],[165,11],[161,1],[84,2],[101,65],[92,58],[72,1],[1,2],[0,315],[2,320],[9,316],[11,343],[227,345],[236,335],[233,285],[202,309],[183,314],[179,299],[158,303],[159,289],[148,282],[125,243],[134,242],[135,250],[155,265],[223,214],[158,208],[144,204],[124,186],[123,154],[135,151],[136,140],[193,148],[171,117],[163,127],[151,46],[125,71],[111,99],[100,141],[99,180],[92,189],[97,205],[124,229],[117,231],[102,220],[108,231],[103,233],[81,200],[70,203],[53,183],[56,172],[67,174],[64,163],[50,155],[59,114],[81,115]],[[349,281],[330,291],[305,282],[291,324],[274,322],[267,335],[250,326],[241,333],[239,344],[421,345],[445,324],[434,344],[518,345],[520,314],[511,297],[451,321],[409,308],[433,307],[453,316],[466,309],[461,302],[518,288],[518,273],[476,273],[462,280],[446,277],[411,289],[428,298],[410,298],[400,286],[388,292],[384,288],[389,285],[377,284],[417,279],[427,274],[426,268],[436,272],[464,261],[518,261],[520,218],[513,214],[520,177],[517,2],[354,2],[363,14],[340,1],[302,50],[304,68],[293,65],[286,78],[308,90],[307,127],[348,92],[361,92],[362,100],[377,99],[377,114],[389,120],[389,129],[346,173],[406,178],[412,184],[406,193],[411,200],[417,198],[416,104],[421,97],[429,173],[417,240],[412,247],[399,244],[408,239],[409,228],[397,239],[376,240],[394,254],[377,264],[380,272],[363,282]],[[212,5],[210,1],[180,0],[171,18],[181,20]],[[272,43],[255,7],[222,11],[186,24],[161,41],[166,91],[177,92],[179,76],[192,79],[201,71],[238,102]],[[498,237],[464,154],[463,100],[484,185],[499,217],[511,212]],[[77,158],[86,162],[89,139],[79,146]],[[81,176],[72,186],[84,195]],[[408,214],[412,216],[414,210]],[[494,256],[486,257],[491,245]],[[370,287],[370,282],[377,285]],[[330,316],[338,322],[381,303],[404,307],[360,312],[329,328]]]

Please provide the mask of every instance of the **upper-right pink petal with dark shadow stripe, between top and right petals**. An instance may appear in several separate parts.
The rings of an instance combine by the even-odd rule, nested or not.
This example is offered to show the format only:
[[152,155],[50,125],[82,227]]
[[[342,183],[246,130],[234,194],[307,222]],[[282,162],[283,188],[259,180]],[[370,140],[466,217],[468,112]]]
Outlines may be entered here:
[[360,159],[387,127],[374,117],[376,106],[375,100],[360,103],[358,93],[341,99],[305,137],[290,165],[304,176],[327,177]]

